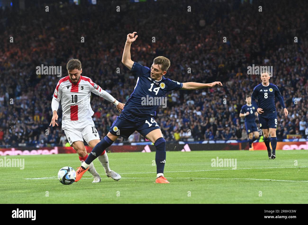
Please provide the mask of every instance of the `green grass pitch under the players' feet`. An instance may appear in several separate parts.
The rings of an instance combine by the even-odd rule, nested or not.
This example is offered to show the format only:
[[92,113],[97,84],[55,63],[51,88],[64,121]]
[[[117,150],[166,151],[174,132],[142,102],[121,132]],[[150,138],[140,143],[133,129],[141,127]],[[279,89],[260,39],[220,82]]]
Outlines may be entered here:
[[[156,184],[155,152],[108,153],[122,178],[107,178],[96,159],[100,183],[86,172],[79,182],[56,178],[63,166],[80,166],[77,154],[6,156],[24,158],[25,168],[0,167],[0,203],[308,203],[308,151],[167,152],[164,176]],[[212,159],[237,160],[237,168],[212,167]],[[1,157],[4,158],[4,157]]]

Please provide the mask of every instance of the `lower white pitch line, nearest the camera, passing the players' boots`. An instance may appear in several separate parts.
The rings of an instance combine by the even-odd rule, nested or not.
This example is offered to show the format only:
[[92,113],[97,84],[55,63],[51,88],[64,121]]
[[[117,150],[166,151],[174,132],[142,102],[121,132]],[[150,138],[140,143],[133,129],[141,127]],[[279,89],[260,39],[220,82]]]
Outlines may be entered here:
[[[294,181],[294,180],[274,180],[274,179],[257,179],[257,178],[204,178],[204,177],[177,177],[168,179],[205,179],[205,180],[256,180],[256,181],[280,181],[280,182],[308,182],[307,181]],[[26,178],[26,180],[55,180],[58,178]],[[83,178],[83,179],[92,179],[92,178]],[[102,178],[102,179],[111,179],[111,178]],[[122,177],[121,179],[153,179],[151,177]]]

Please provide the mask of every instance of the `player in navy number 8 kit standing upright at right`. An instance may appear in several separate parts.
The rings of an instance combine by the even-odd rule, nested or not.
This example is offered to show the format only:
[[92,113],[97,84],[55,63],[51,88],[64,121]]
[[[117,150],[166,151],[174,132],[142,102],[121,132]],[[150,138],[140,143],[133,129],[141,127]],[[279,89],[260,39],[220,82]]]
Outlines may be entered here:
[[[267,148],[269,159],[276,158],[276,129],[277,129],[277,112],[275,107],[275,96],[278,98],[285,117],[288,116],[288,110],[283,102],[280,91],[275,84],[269,82],[270,75],[267,71],[261,73],[262,83],[258,84],[252,92],[251,102],[259,113],[260,128],[264,136],[264,143]],[[255,99],[258,100],[256,103]],[[270,137],[269,137],[270,136]],[[273,151],[270,149],[270,143]]]

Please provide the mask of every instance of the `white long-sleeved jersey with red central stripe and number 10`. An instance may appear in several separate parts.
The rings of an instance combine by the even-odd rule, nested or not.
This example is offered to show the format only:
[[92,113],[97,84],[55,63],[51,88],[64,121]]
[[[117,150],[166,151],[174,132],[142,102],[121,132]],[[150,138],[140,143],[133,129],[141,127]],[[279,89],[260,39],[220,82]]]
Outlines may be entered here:
[[74,84],[66,76],[59,80],[53,100],[62,105],[62,120],[83,120],[89,119],[94,112],[90,105],[91,92],[111,102],[115,100],[108,92],[86,76],[80,76],[78,83]]

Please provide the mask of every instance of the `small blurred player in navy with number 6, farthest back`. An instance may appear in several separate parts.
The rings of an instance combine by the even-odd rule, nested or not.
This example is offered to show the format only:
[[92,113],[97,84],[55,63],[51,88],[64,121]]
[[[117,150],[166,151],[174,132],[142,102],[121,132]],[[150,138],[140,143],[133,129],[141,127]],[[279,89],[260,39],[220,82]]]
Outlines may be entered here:
[[257,108],[251,104],[251,97],[246,96],[246,104],[242,106],[240,117],[245,117],[245,127],[248,134],[249,151],[253,151],[253,141],[259,138],[256,124]]

